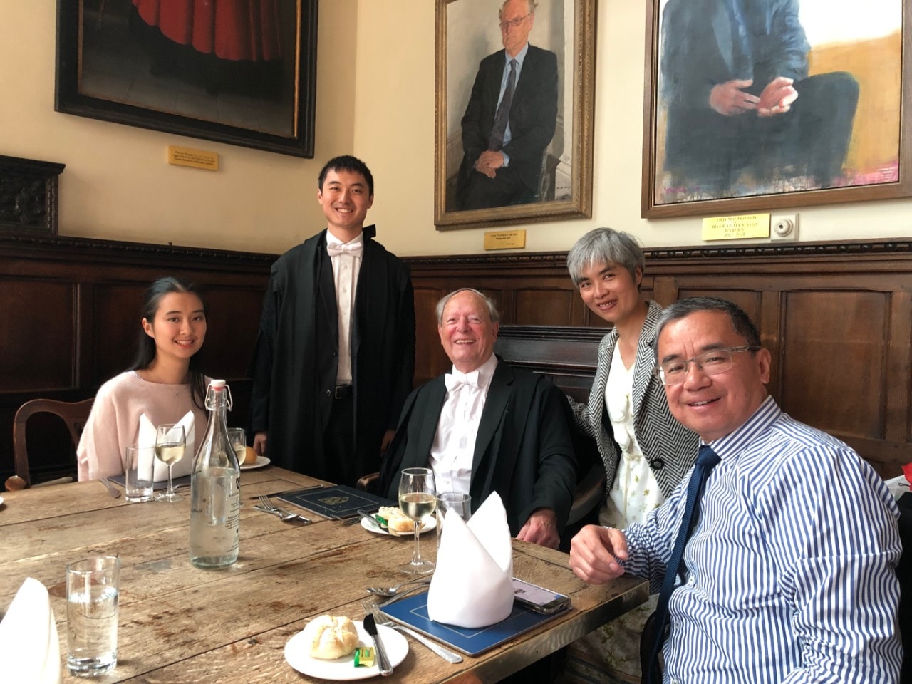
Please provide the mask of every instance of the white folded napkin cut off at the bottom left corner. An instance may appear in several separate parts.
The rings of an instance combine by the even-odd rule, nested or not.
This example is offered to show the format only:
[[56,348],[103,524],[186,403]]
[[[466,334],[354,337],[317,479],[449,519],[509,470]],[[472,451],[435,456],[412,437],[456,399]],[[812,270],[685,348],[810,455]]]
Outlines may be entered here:
[[54,611],[47,589],[32,577],[26,577],[0,622],[0,663],[4,681],[63,681]]

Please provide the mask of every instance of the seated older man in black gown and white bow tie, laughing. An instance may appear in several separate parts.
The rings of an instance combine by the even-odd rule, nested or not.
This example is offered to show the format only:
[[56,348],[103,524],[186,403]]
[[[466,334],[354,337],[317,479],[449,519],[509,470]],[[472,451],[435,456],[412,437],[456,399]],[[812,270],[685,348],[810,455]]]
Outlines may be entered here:
[[482,293],[456,290],[436,313],[453,368],[406,399],[378,492],[396,500],[404,468],[431,468],[438,492],[470,494],[473,512],[497,492],[510,534],[556,548],[576,485],[564,395],[494,355],[500,316]]

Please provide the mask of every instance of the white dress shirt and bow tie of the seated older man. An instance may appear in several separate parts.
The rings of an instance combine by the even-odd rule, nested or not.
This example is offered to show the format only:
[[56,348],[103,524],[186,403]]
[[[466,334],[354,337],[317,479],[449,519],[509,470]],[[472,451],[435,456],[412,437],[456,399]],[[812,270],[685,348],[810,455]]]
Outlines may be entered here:
[[469,493],[475,438],[494,368],[497,368],[497,357],[492,354],[479,368],[467,374],[468,378],[456,368],[444,378],[447,398],[443,401],[437,434],[430,449],[430,468],[438,492]]

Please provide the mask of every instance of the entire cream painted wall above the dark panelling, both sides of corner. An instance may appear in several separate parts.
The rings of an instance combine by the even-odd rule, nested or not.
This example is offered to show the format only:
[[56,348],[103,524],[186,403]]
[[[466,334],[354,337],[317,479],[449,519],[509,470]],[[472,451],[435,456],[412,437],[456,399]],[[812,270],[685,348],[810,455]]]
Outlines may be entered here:
[[[548,2],[548,0],[542,0]],[[646,2],[599,0],[593,219],[534,223],[527,251],[568,249],[608,225],[647,246],[700,244],[700,219],[639,218]],[[316,159],[299,160],[54,111],[56,3],[0,2],[0,154],[67,164],[64,235],[278,253],[325,222],[316,174],[354,151],[377,181],[368,221],[402,255],[482,253],[484,229],[433,224],[433,0],[321,0]],[[169,144],[222,170],[165,163]],[[912,200],[803,208],[803,240],[910,234]]]

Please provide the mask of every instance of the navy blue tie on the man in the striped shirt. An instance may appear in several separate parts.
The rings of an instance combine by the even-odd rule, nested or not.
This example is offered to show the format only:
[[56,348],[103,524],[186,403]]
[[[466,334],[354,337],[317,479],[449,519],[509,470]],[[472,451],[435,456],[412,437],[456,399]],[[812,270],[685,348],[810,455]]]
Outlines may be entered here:
[[705,444],[700,447],[700,454],[697,456],[697,465],[690,475],[690,482],[687,487],[687,503],[684,506],[684,517],[681,518],[681,526],[678,530],[678,539],[675,540],[675,547],[671,551],[671,558],[668,560],[668,568],[665,571],[665,582],[662,584],[662,590],[658,594],[658,604],[656,612],[653,614],[655,620],[655,631],[653,635],[655,641],[652,645],[652,655],[649,658],[649,668],[643,674],[648,684],[658,684],[661,681],[661,675],[658,670],[658,652],[665,643],[665,626],[668,624],[668,599],[675,588],[675,578],[681,569],[681,561],[684,558],[684,547],[693,528],[700,517],[700,495],[703,493],[703,484],[710,476],[710,471],[719,463],[719,454]]

